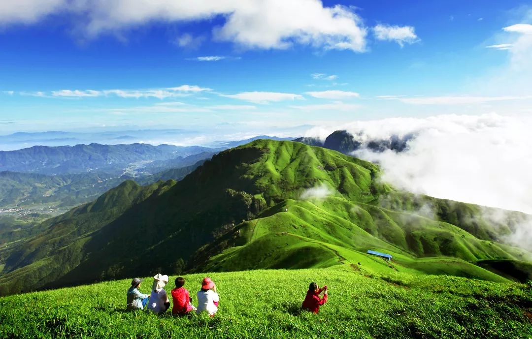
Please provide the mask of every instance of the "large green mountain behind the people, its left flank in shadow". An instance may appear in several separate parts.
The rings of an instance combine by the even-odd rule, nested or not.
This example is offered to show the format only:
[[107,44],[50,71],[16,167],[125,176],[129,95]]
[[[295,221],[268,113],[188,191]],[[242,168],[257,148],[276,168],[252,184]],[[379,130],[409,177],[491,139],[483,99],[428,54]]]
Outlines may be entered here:
[[[529,260],[530,252],[497,242],[480,215],[452,223],[458,211],[473,213],[471,206],[453,202],[456,213],[431,219],[419,213],[419,202],[392,204],[402,194],[408,197],[381,182],[371,163],[299,142],[257,140],[215,155],[177,183],[128,182],[51,219],[43,235],[7,260],[0,289],[12,293],[15,276],[23,277],[16,288],[24,291],[179,272],[185,261],[203,271],[344,265],[501,281],[474,262]],[[394,260],[368,259],[368,249]],[[31,275],[37,267],[39,279]]]

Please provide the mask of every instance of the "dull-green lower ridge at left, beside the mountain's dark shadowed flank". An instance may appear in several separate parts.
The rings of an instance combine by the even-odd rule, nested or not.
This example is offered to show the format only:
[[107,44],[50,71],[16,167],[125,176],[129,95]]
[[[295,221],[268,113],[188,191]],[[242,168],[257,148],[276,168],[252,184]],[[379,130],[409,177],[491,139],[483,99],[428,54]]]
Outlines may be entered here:
[[[21,268],[14,270],[12,274],[0,276],[0,292],[4,294],[23,291],[24,287],[27,287],[25,283],[5,284],[18,274],[31,277],[28,285],[46,285],[63,276],[79,264],[84,255],[82,249],[94,232],[112,222],[124,210],[153,194],[164,192],[174,183],[158,182],[140,187],[133,181],[124,181],[95,201],[43,222],[38,226],[41,230],[39,235],[30,238],[10,253],[4,272]],[[7,287],[7,290],[3,290],[3,287]]]

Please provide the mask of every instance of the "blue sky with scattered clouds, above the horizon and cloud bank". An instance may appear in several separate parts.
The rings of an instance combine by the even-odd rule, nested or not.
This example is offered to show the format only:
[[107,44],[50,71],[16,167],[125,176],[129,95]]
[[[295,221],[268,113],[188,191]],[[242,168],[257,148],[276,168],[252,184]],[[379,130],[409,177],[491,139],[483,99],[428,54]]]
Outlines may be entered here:
[[0,4],[0,134],[531,112],[531,2],[143,3]]

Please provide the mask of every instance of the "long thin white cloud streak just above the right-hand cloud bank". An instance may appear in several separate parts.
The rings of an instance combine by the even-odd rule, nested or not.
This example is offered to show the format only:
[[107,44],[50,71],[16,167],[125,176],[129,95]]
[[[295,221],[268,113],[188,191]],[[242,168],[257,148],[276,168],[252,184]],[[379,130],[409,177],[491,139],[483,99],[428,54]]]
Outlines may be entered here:
[[532,96],[438,96],[438,97],[402,97],[402,96],[379,96],[386,100],[399,100],[412,105],[467,105],[484,104],[490,101],[527,100]]

